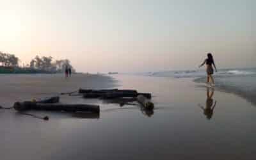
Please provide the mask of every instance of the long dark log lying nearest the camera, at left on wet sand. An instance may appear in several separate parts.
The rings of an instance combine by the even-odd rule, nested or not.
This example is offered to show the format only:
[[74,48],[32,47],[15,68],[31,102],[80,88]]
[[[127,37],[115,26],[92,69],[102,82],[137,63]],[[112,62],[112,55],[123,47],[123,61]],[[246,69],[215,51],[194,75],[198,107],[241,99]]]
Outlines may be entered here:
[[13,108],[17,111],[45,110],[45,111],[67,111],[67,112],[92,112],[99,113],[100,107],[90,104],[42,104],[36,102],[15,102]]

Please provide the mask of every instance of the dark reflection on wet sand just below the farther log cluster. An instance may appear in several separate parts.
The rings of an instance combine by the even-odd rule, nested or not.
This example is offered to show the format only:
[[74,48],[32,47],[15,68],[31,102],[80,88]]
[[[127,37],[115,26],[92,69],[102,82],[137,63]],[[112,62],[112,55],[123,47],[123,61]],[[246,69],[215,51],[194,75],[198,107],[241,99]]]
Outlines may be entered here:
[[103,100],[104,103],[107,104],[118,104],[121,108],[125,105],[132,105],[132,106],[140,106],[140,111],[143,113],[143,115],[146,115],[148,117],[151,117],[154,115],[153,109],[145,109],[141,104],[138,104],[136,98],[118,98],[118,99],[105,99]]

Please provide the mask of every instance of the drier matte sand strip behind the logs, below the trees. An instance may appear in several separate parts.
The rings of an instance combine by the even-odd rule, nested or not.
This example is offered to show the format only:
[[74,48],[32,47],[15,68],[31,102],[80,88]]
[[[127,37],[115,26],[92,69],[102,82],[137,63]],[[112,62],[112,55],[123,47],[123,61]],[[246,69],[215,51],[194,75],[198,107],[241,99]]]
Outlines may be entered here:
[[76,91],[79,88],[111,88],[113,79],[93,74],[74,74],[65,79],[63,74],[5,74],[0,79],[1,106],[13,102],[40,99]]

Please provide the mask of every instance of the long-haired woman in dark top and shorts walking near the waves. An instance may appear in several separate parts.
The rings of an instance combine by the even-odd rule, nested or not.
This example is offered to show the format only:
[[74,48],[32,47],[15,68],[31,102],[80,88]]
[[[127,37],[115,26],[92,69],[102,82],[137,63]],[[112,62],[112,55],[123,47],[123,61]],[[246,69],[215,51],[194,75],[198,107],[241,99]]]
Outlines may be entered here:
[[206,73],[207,73],[207,84],[209,84],[210,80],[211,80],[211,83],[214,86],[215,83],[214,83],[214,79],[212,77],[214,70],[212,68],[212,65],[214,66],[216,72],[217,72],[217,69],[216,69],[216,65],[214,63],[213,56],[211,53],[207,54],[207,58],[204,60],[204,62],[199,67],[202,67],[205,64],[206,64]]

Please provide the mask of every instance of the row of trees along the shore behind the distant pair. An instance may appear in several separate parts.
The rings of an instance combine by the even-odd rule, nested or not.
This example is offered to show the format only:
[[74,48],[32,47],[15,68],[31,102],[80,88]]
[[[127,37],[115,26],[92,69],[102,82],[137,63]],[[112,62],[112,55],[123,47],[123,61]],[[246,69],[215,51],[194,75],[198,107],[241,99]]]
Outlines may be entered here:
[[40,70],[40,72],[63,72],[66,67],[76,72],[69,60],[53,60],[51,56],[35,56],[26,66],[19,67],[20,59],[15,54],[0,52],[0,66],[20,68],[22,70]]

